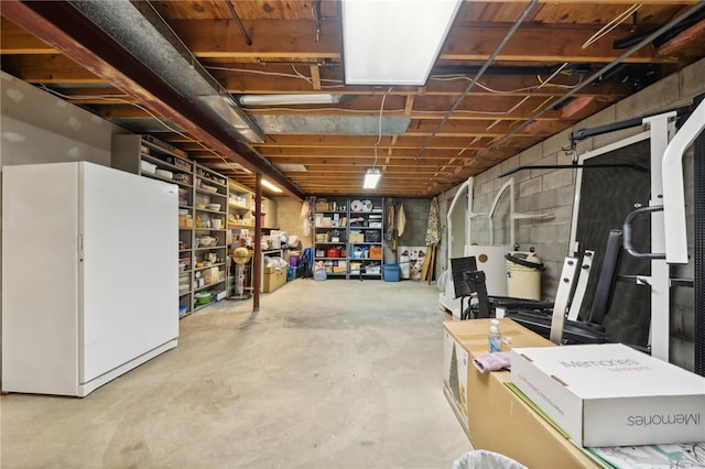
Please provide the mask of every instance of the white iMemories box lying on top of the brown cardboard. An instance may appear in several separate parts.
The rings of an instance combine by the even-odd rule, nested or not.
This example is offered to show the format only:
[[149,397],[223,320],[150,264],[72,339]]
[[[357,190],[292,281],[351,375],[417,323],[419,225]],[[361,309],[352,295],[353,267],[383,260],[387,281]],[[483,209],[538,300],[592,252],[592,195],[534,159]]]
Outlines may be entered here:
[[705,440],[705,378],[625,345],[513,349],[511,375],[578,445]]

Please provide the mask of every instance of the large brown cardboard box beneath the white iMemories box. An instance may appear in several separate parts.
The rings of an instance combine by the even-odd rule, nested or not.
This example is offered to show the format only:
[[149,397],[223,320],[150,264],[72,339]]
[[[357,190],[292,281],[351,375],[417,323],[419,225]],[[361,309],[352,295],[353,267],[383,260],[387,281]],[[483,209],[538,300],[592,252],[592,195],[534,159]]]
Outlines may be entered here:
[[[510,319],[500,319],[505,338],[517,347],[553,347],[547,339]],[[490,319],[444,323],[444,381],[451,381],[449,370],[455,342],[458,383],[466,383],[462,397],[456,397],[449,385],[444,394],[451,403],[460,426],[473,447],[508,456],[529,468],[564,469],[595,468],[596,465],[571,440],[536,414],[510,388],[509,371],[480,373],[473,359],[488,353],[487,334]],[[506,349],[505,351],[509,351]],[[467,363],[462,358],[467,353]],[[459,390],[458,390],[459,393]],[[454,402],[464,399],[467,413],[463,415]]]

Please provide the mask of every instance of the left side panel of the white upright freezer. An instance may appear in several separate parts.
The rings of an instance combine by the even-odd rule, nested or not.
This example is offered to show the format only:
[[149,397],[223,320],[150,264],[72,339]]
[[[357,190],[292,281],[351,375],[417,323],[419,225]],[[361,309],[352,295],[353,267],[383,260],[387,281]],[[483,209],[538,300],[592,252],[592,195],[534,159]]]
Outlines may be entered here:
[[76,164],[2,168],[2,390],[75,395]]

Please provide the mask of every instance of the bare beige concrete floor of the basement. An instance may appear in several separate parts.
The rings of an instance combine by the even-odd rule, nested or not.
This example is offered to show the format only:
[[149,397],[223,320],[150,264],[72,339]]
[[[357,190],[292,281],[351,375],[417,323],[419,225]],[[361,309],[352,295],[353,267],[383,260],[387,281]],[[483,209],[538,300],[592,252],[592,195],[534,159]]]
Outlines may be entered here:
[[438,291],[296,280],[181,320],[178,347],[85,399],[1,400],[2,468],[451,468]]

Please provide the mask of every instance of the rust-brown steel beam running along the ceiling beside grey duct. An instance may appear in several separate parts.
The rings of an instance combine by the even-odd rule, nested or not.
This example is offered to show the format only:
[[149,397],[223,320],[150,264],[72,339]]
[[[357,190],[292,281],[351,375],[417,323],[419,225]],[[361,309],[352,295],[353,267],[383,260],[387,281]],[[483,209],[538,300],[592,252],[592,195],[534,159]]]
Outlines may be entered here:
[[[91,2],[113,3],[113,2]],[[286,194],[303,199],[301,189],[268,160],[207,116],[154,69],[140,62],[122,44],[106,34],[66,1],[21,2],[6,0],[2,15],[25,29],[67,57],[102,77],[138,101],[148,103],[167,120],[213,145],[225,157],[253,173],[261,172]]]

